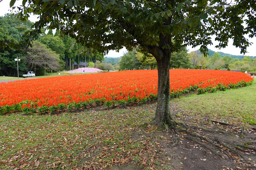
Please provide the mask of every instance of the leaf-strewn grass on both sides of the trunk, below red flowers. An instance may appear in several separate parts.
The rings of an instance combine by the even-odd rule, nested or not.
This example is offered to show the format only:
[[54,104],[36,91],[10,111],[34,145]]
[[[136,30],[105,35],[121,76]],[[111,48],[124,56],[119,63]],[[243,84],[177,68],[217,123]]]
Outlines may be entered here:
[[[252,126],[248,123],[256,121],[255,95],[256,81],[240,89],[181,97],[171,105],[175,102],[187,109],[198,122],[209,117]],[[170,136],[166,138],[155,127],[140,126],[149,123],[154,113],[155,104],[105,111],[91,108],[60,115],[0,116],[0,169],[115,169],[127,162],[132,163],[123,168],[171,168],[171,159],[160,145],[160,140],[170,141]]]

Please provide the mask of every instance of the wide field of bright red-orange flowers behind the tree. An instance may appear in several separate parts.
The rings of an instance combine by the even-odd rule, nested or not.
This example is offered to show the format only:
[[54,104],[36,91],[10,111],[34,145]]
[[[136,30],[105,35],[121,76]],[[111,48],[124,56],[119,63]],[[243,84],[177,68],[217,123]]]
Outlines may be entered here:
[[[226,89],[250,84],[252,77],[241,72],[220,70],[170,70],[171,96],[198,89]],[[27,79],[0,84],[0,107],[57,107],[63,103],[98,101],[107,106],[156,99],[157,70],[117,71]],[[96,102],[97,103],[97,102]],[[62,104],[62,105],[63,105]]]

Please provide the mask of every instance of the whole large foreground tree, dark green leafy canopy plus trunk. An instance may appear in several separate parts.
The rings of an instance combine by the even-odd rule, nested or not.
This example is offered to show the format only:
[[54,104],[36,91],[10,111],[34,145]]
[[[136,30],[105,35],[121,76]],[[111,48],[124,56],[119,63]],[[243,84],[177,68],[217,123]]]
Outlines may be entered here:
[[[16,0],[11,0],[13,6]],[[23,0],[17,16],[28,19],[39,15],[34,30],[21,45],[27,47],[38,38],[42,28],[56,28],[88,49],[108,52],[125,46],[129,51],[139,46],[153,55],[158,68],[158,98],[155,122],[171,128],[175,122],[169,113],[169,61],[171,53],[185,45],[200,46],[206,53],[211,36],[226,47],[233,45],[246,52],[255,36],[255,0]],[[247,17],[247,18],[245,18]]]

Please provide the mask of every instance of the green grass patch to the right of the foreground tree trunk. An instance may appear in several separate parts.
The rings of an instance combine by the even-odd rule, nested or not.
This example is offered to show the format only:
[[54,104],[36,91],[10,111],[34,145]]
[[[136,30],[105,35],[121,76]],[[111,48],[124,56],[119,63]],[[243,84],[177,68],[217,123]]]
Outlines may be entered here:
[[194,119],[256,125],[256,80],[251,86],[175,99]]

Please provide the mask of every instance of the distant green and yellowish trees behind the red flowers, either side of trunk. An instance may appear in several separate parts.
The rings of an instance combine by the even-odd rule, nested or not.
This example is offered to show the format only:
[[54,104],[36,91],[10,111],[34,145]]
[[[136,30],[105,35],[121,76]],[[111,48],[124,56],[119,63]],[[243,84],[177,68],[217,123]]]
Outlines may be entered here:
[[[226,70],[241,70],[256,71],[256,58],[244,56],[231,57],[230,55],[222,56],[219,52],[214,52],[212,55],[201,54],[199,51],[191,51],[188,53],[187,49],[171,54],[169,62],[169,69],[226,69]],[[133,69],[157,69],[157,61],[152,55],[145,55],[139,50],[126,52],[115,65],[119,70],[133,70]]]

